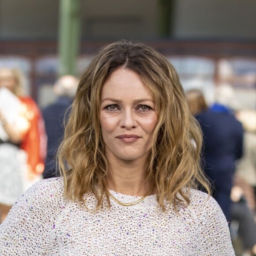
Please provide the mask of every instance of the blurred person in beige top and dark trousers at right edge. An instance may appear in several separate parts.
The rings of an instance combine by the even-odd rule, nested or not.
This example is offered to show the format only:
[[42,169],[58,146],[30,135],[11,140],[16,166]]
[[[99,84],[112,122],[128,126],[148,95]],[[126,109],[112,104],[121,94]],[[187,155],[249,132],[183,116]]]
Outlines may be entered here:
[[[237,161],[231,215],[237,221],[237,233],[245,250],[256,255],[255,188],[256,188],[256,113],[240,110],[236,113],[245,129],[244,154]],[[234,222],[236,225],[236,222]],[[231,222],[232,227],[233,222]],[[250,254],[248,254],[250,255]]]

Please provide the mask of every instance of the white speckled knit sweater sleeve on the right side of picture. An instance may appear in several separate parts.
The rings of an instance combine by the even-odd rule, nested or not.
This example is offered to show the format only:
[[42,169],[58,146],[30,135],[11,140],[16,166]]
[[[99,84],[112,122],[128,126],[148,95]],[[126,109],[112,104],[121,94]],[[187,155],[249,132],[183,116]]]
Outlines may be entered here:
[[[235,255],[230,238],[230,231],[225,215],[218,203],[210,197],[201,200],[203,207],[197,214],[199,236],[201,241],[201,255]],[[203,214],[202,214],[203,213]]]

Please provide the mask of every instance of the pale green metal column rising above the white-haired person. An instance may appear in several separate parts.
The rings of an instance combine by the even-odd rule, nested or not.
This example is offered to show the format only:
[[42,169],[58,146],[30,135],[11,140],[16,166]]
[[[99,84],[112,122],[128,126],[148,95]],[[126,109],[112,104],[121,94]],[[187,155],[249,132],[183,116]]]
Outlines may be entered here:
[[76,75],[80,27],[80,0],[60,0],[59,76]]

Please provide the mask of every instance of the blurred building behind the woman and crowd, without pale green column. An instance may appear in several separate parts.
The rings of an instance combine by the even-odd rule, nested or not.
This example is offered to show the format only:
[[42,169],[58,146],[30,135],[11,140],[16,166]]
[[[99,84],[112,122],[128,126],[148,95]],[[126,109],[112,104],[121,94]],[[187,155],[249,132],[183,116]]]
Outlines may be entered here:
[[[0,66],[21,68],[27,93],[41,106],[54,100],[60,3],[0,0]],[[216,84],[228,82],[237,107],[256,109],[255,0],[80,0],[79,4],[76,75],[100,46],[123,38],[142,41],[169,58],[185,90],[202,89],[211,103]]]

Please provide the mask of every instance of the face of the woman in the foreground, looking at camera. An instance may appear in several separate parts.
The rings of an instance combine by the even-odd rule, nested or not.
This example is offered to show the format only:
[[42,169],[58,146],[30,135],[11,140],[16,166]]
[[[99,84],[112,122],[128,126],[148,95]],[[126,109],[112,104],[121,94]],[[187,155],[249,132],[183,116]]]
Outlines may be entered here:
[[100,123],[107,158],[146,159],[157,122],[154,98],[139,75],[118,68],[101,95]]

